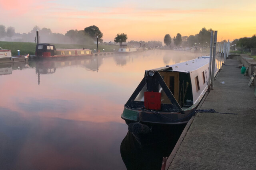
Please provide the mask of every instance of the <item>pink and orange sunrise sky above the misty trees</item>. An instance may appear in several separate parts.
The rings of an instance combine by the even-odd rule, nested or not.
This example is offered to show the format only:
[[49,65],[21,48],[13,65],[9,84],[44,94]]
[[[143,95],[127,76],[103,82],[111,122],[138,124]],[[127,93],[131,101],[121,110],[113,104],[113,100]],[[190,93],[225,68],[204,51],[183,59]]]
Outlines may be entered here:
[[195,35],[205,27],[218,41],[256,34],[256,1],[249,0],[0,0],[0,24],[16,33],[35,25],[65,34],[96,25],[103,41],[125,33],[127,41],[162,41]]

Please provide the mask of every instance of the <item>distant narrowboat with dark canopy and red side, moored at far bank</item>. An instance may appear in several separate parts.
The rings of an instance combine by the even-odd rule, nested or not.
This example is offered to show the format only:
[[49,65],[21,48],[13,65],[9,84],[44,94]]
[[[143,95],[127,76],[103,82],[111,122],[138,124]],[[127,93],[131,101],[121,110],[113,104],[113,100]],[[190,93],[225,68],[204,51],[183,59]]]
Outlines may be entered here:
[[84,57],[92,55],[90,49],[56,49],[54,45],[48,43],[39,43],[36,45],[36,55],[32,58],[66,58],[66,57]]

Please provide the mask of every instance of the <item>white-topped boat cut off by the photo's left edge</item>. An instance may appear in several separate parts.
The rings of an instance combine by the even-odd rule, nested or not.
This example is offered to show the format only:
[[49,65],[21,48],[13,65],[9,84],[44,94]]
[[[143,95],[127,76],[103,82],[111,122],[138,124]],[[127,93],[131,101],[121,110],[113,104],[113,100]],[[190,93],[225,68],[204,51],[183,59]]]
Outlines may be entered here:
[[12,56],[11,50],[0,47],[0,63],[24,62],[28,60],[29,54]]

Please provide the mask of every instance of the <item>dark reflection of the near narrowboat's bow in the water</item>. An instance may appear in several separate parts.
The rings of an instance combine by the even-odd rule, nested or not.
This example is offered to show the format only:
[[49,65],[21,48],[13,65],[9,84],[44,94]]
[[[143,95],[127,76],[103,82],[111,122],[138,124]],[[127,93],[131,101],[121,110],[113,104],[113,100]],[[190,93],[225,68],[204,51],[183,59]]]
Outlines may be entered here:
[[170,155],[178,137],[172,136],[142,147],[128,131],[120,146],[122,160],[128,170],[160,170],[163,157]]

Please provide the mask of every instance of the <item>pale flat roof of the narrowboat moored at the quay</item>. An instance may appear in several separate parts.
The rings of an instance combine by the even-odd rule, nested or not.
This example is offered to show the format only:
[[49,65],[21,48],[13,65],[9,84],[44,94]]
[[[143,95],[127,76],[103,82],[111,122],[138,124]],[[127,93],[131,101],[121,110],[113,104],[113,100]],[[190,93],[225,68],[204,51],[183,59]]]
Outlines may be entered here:
[[166,65],[165,67],[155,68],[152,70],[157,71],[177,71],[177,72],[190,72],[193,70],[197,70],[198,68],[204,66],[205,64],[209,64],[210,56],[202,56],[193,60],[185,61],[182,63],[176,63],[172,65]]

